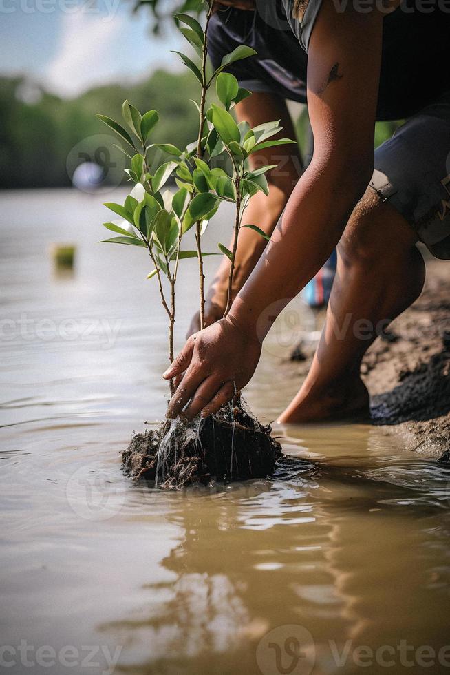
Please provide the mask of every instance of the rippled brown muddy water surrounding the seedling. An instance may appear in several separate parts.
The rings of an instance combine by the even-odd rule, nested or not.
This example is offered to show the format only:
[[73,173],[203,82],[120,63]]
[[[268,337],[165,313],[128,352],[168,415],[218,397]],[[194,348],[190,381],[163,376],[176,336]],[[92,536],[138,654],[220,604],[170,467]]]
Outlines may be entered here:
[[[1,669],[450,672],[450,475],[396,436],[276,429],[291,459],[270,481],[167,494],[122,475],[164,413],[166,320],[140,249],[96,245],[99,201],[3,195]],[[72,241],[57,273],[49,246]],[[248,388],[266,419],[297,384],[279,367],[297,315]]]

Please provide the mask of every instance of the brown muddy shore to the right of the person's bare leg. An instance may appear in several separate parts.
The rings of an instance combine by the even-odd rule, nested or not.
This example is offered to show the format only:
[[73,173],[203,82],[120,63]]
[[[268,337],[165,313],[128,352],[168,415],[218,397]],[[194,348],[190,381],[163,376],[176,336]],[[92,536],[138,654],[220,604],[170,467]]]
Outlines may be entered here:
[[[304,350],[301,375],[312,349]],[[378,338],[363,362],[372,422],[405,448],[450,461],[450,264],[427,260],[420,298]]]

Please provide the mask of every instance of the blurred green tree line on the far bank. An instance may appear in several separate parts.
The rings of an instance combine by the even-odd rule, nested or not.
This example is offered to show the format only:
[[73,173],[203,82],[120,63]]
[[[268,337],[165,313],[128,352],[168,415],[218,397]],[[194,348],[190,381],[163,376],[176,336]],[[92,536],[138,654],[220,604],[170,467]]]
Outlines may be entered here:
[[[160,113],[154,143],[170,138],[184,147],[197,133],[197,111],[189,101],[193,87],[190,72],[158,70],[140,83],[95,87],[78,98],[62,99],[23,78],[0,78],[0,188],[71,185],[66,169],[70,151],[89,136],[105,134],[95,114],[105,112],[120,119],[125,98],[140,110],[154,108]],[[378,123],[376,145],[389,138],[397,125]],[[297,121],[297,133],[302,154],[308,156],[306,109]],[[111,134],[111,143],[116,142]]]

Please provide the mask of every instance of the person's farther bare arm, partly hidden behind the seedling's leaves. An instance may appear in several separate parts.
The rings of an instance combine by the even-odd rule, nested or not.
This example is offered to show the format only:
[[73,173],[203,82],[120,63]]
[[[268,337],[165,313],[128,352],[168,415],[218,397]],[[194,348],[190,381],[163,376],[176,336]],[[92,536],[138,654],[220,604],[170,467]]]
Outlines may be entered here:
[[[275,94],[255,93],[244,99],[236,106],[236,116],[238,122],[245,120],[250,124],[250,127],[279,119],[283,127],[283,132],[279,135],[288,138],[295,137],[286,102]],[[278,148],[268,148],[250,156],[250,166],[253,169],[265,165],[277,165],[276,169],[266,174],[269,194],[266,196],[262,192],[258,192],[251,198],[242,224],[258,225],[266,234],[271,236],[301,175],[302,164],[299,150],[296,146],[281,145]],[[259,234],[248,229],[248,227],[242,227],[239,232],[233,275],[233,299],[244,286],[265,247],[266,241]],[[221,319],[224,315],[228,295],[229,269],[230,262],[224,256],[206,296],[206,326]],[[196,333],[199,328],[200,320],[197,313],[186,337]]]

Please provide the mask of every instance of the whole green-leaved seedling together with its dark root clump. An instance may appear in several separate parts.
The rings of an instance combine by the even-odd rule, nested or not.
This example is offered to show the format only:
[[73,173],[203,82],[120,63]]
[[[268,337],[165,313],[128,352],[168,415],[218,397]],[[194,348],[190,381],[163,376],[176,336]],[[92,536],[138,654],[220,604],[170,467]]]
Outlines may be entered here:
[[[180,261],[198,259],[202,329],[203,258],[211,255],[202,251],[202,235],[223,202],[235,204],[232,250],[219,244],[220,251],[230,260],[226,315],[231,306],[242,216],[253,195],[258,191],[268,194],[265,174],[274,168],[270,165],[250,170],[248,157],[268,147],[293,143],[288,138],[270,140],[282,128],[278,121],[253,129],[246,122],[235,122],[229,111],[250,96],[250,92],[239,87],[235,76],[224,71],[231,63],[256,52],[240,45],[224,56],[215,72],[210,72],[207,30],[213,3],[199,0],[197,10],[203,9],[206,9],[205,30],[197,19],[188,14],[175,17],[180,32],[198,56],[198,63],[195,63],[186,54],[176,52],[200,84],[200,101],[193,101],[199,115],[197,139],[184,149],[171,143],[151,143],[151,132],[158,123],[158,113],[150,110],[141,115],[129,101],[122,106],[125,126],[98,115],[127,143],[129,149],[121,149],[131,161],[131,167],[126,172],[135,184],[124,205],[105,204],[122,219],[104,223],[107,229],[119,235],[106,241],[147,249],[153,264],[147,278],[156,278],[162,306],[169,318],[169,362],[173,361],[175,287]],[[206,97],[213,84],[222,105],[212,103],[207,107]],[[158,158],[162,156],[165,160],[156,167]],[[231,167],[229,172],[212,166],[213,160],[217,161],[215,158],[220,156],[228,156],[226,165]],[[156,167],[154,173],[153,167]],[[172,176],[177,185],[176,191],[166,189],[162,192]],[[195,227],[196,250],[184,250],[183,236],[192,227]],[[268,239],[257,225],[244,227],[250,227]],[[164,288],[164,276],[169,282],[169,294]],[[173,382],[170,382],[170,388],[173,395]],[[184,419],[167,419],[158,430],[134,437],[123,456],[131,475],[156,481],[162,479],[164,486],[182,486],[195,480],[206,482],[213,477],[264,477],[272,472],[279,454],[279,444],[270,437],[270,427],[260,426],[240,404],[235,408],[233,405],[226,406],[213,418],[197,419],[191,424]]]

